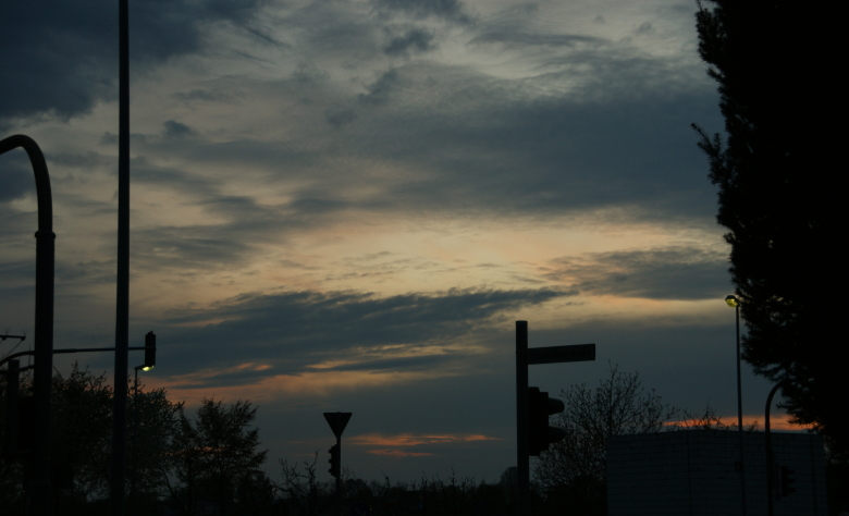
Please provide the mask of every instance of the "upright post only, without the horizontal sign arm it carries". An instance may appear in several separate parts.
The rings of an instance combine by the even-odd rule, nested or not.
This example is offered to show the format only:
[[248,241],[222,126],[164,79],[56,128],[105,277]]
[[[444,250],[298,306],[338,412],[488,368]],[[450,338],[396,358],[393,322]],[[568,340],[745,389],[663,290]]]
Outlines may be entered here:
[[528,321],[516,321],[516,499],[518,516],[530,514],[528,458]]

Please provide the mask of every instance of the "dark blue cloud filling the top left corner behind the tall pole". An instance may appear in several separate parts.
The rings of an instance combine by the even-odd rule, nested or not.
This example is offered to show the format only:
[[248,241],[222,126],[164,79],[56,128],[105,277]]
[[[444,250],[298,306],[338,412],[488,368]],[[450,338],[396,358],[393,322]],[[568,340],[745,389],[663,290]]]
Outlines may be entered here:
[[[261,0],[130,2],[133,65],[198,51],[212,23],[247,25]],[[0,17],[0,124],[85,113],[116,96],[118,4],[107,0],[11,2]],[[138,69],[135,69],[136,72]],[[11,73],[10,73],[11,71]],[[1,127],[2,125],[0,125]]]

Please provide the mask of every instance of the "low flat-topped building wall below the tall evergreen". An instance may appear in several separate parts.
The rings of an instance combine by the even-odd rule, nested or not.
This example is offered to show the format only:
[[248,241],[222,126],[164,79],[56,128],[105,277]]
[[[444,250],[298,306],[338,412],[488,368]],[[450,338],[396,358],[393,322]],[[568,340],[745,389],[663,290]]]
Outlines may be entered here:
[[[796,492],[776,500],[775,516],[825,516],[822,438],[772,433],[776,464],[795,470]],[[763,432],[746,432],[748,516],[766,516]],[[610,516],[741,515],[739,437],[728,430],[620,435],[607,441]]]

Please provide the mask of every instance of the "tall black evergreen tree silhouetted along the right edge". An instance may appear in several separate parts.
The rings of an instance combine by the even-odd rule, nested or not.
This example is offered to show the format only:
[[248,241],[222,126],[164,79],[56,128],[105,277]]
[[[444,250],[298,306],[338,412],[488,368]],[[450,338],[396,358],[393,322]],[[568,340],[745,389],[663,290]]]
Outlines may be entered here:
[[[726,137],[709,137],[719,224],[748,332],[743,358],[789,380],[793,422],[849,449],[841,323],[840,2],[699,3],[699,52],[718,83]],[[839,139],[838,139],[839,138]]]

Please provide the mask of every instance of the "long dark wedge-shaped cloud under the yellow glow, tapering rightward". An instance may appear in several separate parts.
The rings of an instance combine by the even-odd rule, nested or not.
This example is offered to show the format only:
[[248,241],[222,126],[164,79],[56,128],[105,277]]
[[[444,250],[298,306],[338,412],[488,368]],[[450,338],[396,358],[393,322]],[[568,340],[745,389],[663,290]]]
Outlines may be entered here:
[[[347,370],[422,370],[444,367],[462,353],[410,358],[397,353],[419,346],[446,346],[468,339],[476,328],[490,324],[505,311],[539,305],[573,292],[541,290],[451,290],[436,294],[377,297],[361,292],[287,292],[244,294],[212,308],[183,311],[162,321],[162,348],[185,372],[261,360],[270,369],[242,371],[232,379],[244,382],[269,374],[297,374],[327,359],[372,354]],[[186,328],[190,327],[190,328]],[[391,348],[390,348],[391,347]],[[232,353],[222,353],[231,349]],[[377,354],[377,355],[374,355]]]

